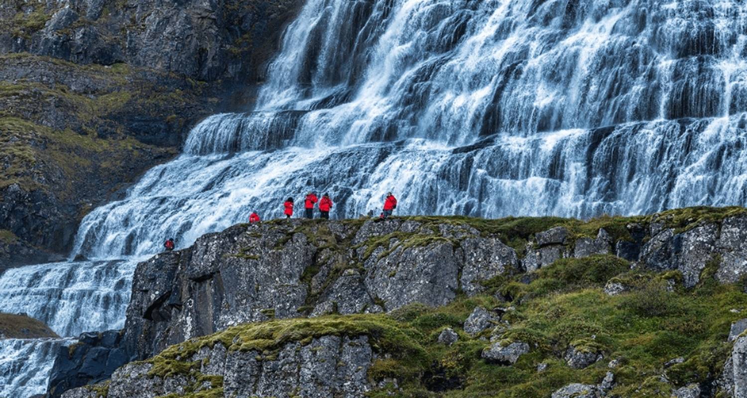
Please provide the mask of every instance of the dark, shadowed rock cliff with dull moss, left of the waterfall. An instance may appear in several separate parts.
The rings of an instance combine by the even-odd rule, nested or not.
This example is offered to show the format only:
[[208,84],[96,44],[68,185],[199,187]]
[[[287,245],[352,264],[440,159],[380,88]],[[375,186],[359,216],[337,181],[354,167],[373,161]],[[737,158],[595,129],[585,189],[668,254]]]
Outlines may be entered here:
[[296,0],[0,5],[4,267],[66,255],[81,218],[176,155],[190,126],[250,106]]

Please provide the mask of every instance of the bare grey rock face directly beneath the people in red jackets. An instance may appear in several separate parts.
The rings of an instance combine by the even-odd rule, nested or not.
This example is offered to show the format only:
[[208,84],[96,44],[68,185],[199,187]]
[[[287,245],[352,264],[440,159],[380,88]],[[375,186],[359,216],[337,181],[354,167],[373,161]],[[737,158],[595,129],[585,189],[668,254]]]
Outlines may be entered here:
[[493,272],[469,280],[468,294],[483,289],[480,280],[517,272],[515,252],[503,243],[432,227],[291,220],[205,235],[190,249],[138,265],[125,339],[147,358],[238,323],[446,305],[473,261]]

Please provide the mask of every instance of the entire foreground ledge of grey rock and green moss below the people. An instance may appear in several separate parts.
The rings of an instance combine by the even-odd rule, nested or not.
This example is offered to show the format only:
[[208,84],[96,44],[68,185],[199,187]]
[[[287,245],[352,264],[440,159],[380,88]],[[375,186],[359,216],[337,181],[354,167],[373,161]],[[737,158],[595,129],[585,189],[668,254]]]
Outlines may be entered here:
[[66,397],[470,397],[496,372],[512,394],[738,391],[724,369],[743,355],[727,361],[747,311],[746,221],[691,208],[234,226],[138,265],[123,346],[146,361]]

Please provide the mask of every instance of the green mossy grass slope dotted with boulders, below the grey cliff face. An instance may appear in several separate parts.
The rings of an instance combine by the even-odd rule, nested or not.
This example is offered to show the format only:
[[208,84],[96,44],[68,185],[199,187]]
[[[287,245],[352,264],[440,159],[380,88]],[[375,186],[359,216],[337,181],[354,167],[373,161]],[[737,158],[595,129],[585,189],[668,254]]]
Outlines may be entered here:
[[[199,364],[183,358],[219,341],[230,349],[273,358],[289,341],[368,335],[374,349],[389,354],[381,355],[369,370],[373,382],[386,385],[371,397],[549,397],[570,383],[599,383],[610,370],[616,376],[610,396],[670,397],[673,388],[719,375],[731,349],[731,323],[746,314],[745,286],[718,284],[713,271],[708,267],[701,283],[686,290],[678,272],[631,270],[630,264],[611,255],[563,259],[529,278],[493,279],[486,282],[489,294],[460,296],[442,308],[409,305],[390,314],[236,326],[172,346],[149,360],[155,365],[151,373],[199,376]],[[603,287],[610,280],[624,281],[632,289],[608,296]],[[477,306],[505,311],[502,320],[509,326],[490,328],[474,338],[466,334],[462,324]],[[447,327],[459,335],[451,346],[437,341]],[[530,344],[530,353],[513,366],[490,364],[481,352],[491,340],[523,341]],[[604,359],[585,369],[571,368],[563,359],[568,346],[597,352]],[[678,357],[684,361],[665,366]],[[616,366],[610,367],[613,360]],[[545,370],[538,370],[539,364],[545,364]],[[222,381],[214,382],[213,392],[220,395]]]

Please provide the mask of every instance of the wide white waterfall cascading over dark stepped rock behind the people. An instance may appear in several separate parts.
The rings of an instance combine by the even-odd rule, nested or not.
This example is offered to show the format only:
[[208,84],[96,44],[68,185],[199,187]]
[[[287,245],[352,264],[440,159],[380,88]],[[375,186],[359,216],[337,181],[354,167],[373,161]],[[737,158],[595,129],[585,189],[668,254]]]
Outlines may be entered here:
[[[63,334],[118,327],[121,314],[66,320],[126,302],[86,293],[128,290],[130,263],[108,261],[165,237],[187,246],[252,210],[279,217],[310,189],[330,193],[335,217],[380,208],[388,190],[400,214],[747,205],[746,55],[740,0],[307,0],[254,111],[205,119],[182,156],[81,223],[74,253],[92,261],[73,272],[99,282],[24,268],[3,276],[0,302],[28,293],[1,311]],[[89,304],[34,311],[23,294],[66,300],[35,286],[79,286]]]

